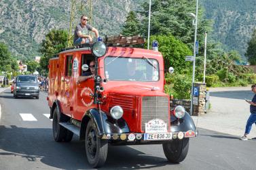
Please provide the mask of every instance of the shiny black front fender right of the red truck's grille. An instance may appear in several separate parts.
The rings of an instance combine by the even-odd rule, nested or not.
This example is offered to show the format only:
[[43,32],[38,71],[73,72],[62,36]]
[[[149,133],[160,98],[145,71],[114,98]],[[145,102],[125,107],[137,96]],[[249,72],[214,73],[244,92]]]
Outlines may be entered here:
[[[174,116],[174,115],[172,115]],[[178,123],[179,121],[179,123]],[[191,118],[191,116],[189,115],[188,112],[185,112],[185,116],[182,119],[172,119],[171,121],[171,126],[170,126],[170,131],[171,132],[179,132],[179,131],[196,131],[196,126],[195,123],[193,121],[193,119]]]

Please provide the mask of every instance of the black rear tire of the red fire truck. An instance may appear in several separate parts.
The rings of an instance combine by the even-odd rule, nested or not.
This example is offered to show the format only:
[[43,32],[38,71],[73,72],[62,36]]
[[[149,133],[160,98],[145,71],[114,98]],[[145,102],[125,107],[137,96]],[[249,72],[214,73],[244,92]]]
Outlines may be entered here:
[[52,118],[52,133],[54,135],[54,140],[56,142],[61,142],[62,140],[64,140],[67,133],[67,129],[65,129],[65,127],[62,127],[59,124],[60,114],[58,114],[58,108],[55,108],[53,113],[53,118]]

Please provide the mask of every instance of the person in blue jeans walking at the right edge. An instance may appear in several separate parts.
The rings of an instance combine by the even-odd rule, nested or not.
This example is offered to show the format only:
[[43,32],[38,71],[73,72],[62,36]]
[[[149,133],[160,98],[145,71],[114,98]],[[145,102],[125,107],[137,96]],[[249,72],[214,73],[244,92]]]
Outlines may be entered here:
[[256,125],[256,85],[252,85],[251,90],[253,91],[253,93],[255,93],[255,95],[253,96],[253,100],[252,101],[245,100],[246,102],[251,104],[250,105],[251,115],[249,116],[249,119],[247,120],[244,135],[242,137],[240,137],[240,140],[248,140],[248,135],[251,131],[251,127],[252,127],[253,123],[255,123],[255,125]]

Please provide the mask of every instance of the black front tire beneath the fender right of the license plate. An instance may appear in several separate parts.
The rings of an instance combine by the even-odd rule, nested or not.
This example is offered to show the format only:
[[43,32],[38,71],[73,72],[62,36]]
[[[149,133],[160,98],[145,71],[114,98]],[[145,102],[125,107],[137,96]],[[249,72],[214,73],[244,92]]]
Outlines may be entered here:
[[163,144],[164,154],[170,163],[180,163],[183,161],[189,150],[189,138],[183,140],[172,140]]

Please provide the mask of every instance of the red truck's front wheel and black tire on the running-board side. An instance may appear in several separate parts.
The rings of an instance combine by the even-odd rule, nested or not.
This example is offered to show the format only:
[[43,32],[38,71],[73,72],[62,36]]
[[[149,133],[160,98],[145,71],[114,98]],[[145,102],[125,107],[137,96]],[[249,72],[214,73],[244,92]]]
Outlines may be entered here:
[[108,144],[107,140],[98,137],[92,120],[89,121],[86,128],[85,143],[88,163],[94,168],[103,166],[107,159]]

